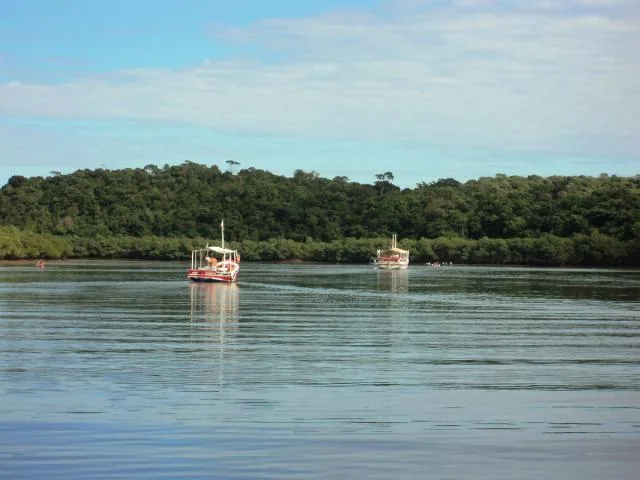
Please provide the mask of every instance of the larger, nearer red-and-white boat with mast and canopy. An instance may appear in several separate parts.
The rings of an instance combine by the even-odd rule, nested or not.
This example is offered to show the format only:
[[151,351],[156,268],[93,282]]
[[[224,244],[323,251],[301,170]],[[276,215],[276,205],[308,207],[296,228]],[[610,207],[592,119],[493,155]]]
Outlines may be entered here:
[[240,273],[240,255],[224,246],[224,220],[220,222],[220,246],[207,245],[191,252],[191,268],[187,278],[194,282],[235,282]]

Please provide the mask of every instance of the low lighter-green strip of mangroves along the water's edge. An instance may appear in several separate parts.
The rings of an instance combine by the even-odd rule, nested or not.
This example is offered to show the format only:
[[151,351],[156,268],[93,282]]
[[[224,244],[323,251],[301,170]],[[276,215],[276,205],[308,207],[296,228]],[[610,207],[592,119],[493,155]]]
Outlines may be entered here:
[[[332,242],[296,242],[287,239],[228,242],[249,262],[368,263],[372,252],[388,244],[388,238],[346,238]],[[211,243],[211,242],[210,242]],[[56,259],[122,259],[186,261],[191,250],[206,244],[186,237],[62,237],[0,227],[0,259],[36,261]],[[465,265],[529,266],[640,266],[637,243],[621,242],[599,233],[561,238],[479,240],[455,237],[405,239],[400,248],[411,252],[412,264],[453,262]]]

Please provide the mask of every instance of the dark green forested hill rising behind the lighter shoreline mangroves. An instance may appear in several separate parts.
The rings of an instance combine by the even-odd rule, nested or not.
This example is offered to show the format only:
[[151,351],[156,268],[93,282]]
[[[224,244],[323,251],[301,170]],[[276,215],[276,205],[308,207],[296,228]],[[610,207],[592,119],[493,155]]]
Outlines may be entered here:
[[413,189],[390,172],[371,184],[298,170],[223,172],[185,162],[163,168],[79,170],[12,177],[0,190],[0,225],[73,235],[333,241],[640,235],[640,176],[443,179]]

